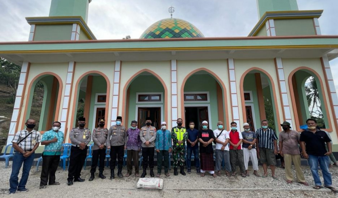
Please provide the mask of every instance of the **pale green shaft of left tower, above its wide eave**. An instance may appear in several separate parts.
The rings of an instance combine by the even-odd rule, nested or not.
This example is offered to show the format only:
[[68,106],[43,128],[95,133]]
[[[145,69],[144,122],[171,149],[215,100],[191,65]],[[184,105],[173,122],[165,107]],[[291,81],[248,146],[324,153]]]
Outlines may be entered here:
[[50,17],[81,16],[87,22],[89,0],[52,0]]

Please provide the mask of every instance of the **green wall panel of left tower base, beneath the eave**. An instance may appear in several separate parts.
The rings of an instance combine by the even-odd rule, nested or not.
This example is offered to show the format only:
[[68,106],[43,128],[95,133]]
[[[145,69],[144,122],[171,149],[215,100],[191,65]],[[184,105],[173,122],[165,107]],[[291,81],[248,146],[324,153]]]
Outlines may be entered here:
[[37,25],[34,41],[65,41],[70,40],[72,25]]

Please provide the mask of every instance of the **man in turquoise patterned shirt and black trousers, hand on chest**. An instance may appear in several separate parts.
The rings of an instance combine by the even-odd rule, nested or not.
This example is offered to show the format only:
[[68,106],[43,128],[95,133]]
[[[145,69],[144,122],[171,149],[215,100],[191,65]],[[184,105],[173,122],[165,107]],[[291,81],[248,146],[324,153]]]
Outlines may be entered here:
[[55,181],[55,172],[60,162],[62,144],[64,142],[64,133],[60,131],[60,122],[53,122],[52,130],[46,131],[41,139],[41,145],[45,145],[42,153],[42,170],[40,176],[40,188],[47,188],[49,185],[60,185]]

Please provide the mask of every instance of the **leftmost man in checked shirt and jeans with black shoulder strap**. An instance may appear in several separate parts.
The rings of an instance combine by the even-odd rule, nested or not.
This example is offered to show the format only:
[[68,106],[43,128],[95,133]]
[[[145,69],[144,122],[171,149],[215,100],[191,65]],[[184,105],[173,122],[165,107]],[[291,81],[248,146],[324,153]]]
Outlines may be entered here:
[[[27,192],[26,183],[29,176],[30,168],[34,160],[34,151],[38,148],[41,142],[40,132],[34,130],[36,121],[28,119],[25,123],[26,129],[17,132],[12,140],[15,149],[13,157],[12,173],[9,178],[9,194],[14,194],[17,191]],[[18,181],[19,171],[22,168],[22,176]]]

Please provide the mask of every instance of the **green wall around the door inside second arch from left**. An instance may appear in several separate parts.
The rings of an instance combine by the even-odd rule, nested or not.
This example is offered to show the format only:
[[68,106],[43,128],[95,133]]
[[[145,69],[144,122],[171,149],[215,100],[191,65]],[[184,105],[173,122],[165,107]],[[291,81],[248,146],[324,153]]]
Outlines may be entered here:
[[96,93],[107,93],[107,83],[103,76],[93,76],[92,95],[90,98],[89,118],[87,122],[87,126],[91,131],[94,129],[93,120],[94,115],[96,115],[96,112],[94,112],[95,106],[105,107],[105,104],[95,104]]

